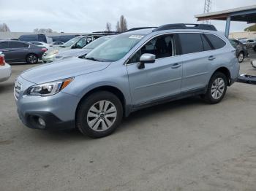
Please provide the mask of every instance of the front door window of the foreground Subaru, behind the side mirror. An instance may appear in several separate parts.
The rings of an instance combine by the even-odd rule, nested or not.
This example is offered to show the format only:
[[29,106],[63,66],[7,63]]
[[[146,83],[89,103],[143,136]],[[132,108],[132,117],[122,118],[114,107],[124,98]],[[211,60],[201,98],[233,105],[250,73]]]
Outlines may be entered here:
[[173,34],[157,36],[151,39],[129,59],[129,63],[139,62],[140,56],[145,53],[156,55],[156,58],[166,58],[175,55]]

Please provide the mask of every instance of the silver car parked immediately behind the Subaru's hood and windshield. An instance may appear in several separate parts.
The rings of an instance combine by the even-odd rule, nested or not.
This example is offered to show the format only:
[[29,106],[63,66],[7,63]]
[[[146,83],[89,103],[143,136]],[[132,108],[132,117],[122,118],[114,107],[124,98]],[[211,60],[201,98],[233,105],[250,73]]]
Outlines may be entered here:
[[86,55],[89,52],[91,52],[91,50],[98,47],[100,44],[108,41],[109,39],[113,38],[114,36],[116,36],[116,35],[102,36],[99,39],[94,40],[90,44],[87,44],[82,49],[72,49],[72,50],[65,50],[65,51],[59,52],[56,55],[55,61],[59,61],[61,59],[65,59],[65,58],[72,58],[72,57],[79,57],[79,56]]

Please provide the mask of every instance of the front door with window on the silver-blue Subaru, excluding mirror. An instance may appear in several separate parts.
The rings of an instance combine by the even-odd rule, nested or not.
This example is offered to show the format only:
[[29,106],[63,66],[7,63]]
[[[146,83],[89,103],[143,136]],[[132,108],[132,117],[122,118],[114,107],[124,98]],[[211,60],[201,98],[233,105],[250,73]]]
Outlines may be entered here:
[[[181,93],[182,64],[180,56],[176,55],[174,39],[173,34],[157,36],[129,59],[127,71],[133,105],[149,104]],[[144,53],[156,55],[156,61],[138,69]]]

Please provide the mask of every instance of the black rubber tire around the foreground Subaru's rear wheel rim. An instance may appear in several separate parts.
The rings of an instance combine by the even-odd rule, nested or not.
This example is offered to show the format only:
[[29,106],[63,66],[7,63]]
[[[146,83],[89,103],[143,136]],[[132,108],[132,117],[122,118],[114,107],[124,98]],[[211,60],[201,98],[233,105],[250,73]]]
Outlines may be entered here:
[[[211,93],[211,90],[212,90],[211,88],[213,87],[215,80],[217,79],[223,80],[224,87],[223,89],[221,89],[223,90],[222,95],[219,98],[214,98],[214,95],[212,95]],[[220,101],[222,101],[222,98],[224,98],[226,91],[227,91],[227,77],[222,72],[217,71],[212,75],[208,83],[206,94],[201,95],[201,98],[203,98],[208,104],[218,104]],[[219,89],[217,90],[217,93],[220,93]]]

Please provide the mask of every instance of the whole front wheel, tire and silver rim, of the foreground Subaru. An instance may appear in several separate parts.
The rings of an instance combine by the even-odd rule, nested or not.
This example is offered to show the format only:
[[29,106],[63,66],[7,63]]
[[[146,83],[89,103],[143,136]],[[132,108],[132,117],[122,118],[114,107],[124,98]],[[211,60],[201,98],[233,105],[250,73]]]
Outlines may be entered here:
[[84,135],[100,138],[113,133],[122,117],[123,107],[118,97],[113,93],[100,91],[81,101],[75,122]]

